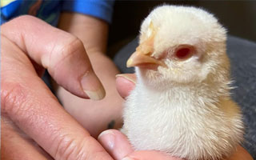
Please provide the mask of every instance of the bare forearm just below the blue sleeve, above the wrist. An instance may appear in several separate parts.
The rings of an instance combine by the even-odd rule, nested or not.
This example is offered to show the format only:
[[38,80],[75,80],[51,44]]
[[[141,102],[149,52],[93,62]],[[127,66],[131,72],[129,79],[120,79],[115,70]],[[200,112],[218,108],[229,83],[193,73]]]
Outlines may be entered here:
[[82,40],[87,54],[105,53],[108,24],[84,14],[62,13],[58,27]]

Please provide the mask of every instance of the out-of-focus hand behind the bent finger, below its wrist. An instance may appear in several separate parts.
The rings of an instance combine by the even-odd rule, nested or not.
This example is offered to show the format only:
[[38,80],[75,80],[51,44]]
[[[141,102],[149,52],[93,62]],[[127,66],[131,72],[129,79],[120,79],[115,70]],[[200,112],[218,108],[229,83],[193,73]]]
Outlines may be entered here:
[[[92,58],[94,56],[95,58]],[[90,61],[106,90],[105,98],[100,101],[78,98],[62,87],[58,87],[55,93],[68,113],[76,118],[91,136],[97,138],[103,130],[122,127],[123,99],[115,89],[115,75],[118,70],[113,62],[103,54],[96,53],[90,56]]]

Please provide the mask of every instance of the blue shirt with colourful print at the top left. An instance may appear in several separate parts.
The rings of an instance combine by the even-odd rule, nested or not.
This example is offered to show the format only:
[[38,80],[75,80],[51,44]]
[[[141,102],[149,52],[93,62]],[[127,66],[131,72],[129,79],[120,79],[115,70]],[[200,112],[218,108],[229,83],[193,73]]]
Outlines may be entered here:
[[87,14],[111,22],[114,0],[1,0],[1,24],[19,15],[30,14],[57,26],[62,11]]

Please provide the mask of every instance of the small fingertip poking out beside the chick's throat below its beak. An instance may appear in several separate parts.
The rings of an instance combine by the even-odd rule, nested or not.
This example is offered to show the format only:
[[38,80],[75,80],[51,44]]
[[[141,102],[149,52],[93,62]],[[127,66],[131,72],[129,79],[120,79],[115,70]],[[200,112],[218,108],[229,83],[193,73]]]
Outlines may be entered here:
[[135,74],[116,75],[117,90],[122,98],[126,98],[130,94],[130,91],[134,89],[135,83],[136,83]]

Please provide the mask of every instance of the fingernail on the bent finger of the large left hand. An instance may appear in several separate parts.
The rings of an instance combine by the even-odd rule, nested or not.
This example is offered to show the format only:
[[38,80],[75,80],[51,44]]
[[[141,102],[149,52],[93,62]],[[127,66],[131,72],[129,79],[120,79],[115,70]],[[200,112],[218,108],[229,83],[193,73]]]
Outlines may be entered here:
[[92,100],[100,100],[106,95],[102,83],[91,70],[87,71],[86,74],[82,76],[81,85],[82,90]]

